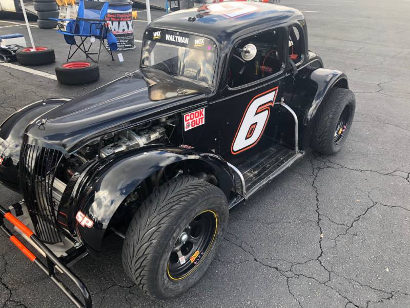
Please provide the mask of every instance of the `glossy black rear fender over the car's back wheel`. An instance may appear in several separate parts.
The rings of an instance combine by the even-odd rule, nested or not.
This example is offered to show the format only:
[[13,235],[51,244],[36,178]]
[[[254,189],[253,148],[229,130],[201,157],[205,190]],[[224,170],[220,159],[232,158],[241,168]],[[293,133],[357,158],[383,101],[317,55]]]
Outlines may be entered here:
[[297,113],[299,119],[299,148],[310,146],[313,123],[316,112],[327,92],[333,87],[348,89],[345,73],[307,65],[299,72],[296,89],[288,92],[289,106]]

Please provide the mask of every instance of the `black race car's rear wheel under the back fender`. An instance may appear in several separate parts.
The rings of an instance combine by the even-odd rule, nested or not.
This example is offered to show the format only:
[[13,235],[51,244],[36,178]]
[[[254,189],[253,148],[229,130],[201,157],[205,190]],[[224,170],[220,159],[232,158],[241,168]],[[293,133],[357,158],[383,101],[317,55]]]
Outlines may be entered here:
[[342,148],[352,126],[356,109],[355,94],[349,89],[332,88],[316,113],[311,147],[332,155]]

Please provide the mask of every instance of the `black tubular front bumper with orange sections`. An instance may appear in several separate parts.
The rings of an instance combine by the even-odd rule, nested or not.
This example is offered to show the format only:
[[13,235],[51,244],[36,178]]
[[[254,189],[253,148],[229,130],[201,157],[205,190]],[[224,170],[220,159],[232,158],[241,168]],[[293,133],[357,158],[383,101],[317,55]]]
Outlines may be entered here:
[[[37,249],[43,256],[45,256],[45,262],[38,259],[29,248],[27,248],[18,238],[16,238],[7,226],[4,224],[4,219],[9,221],[16,230],[27,242],[30,243],[33,248]],[[17,248],[33,263],[40,267],[44,273],[60,288],[61,291],[73,302],[73,304],[78,308],[91,308],[92,301],[90,293],[87,290],[85,284],[73,273],[70,269],[60,261],[60,259],[47,247],[42,241],[40,241],[37,236],[32,232],[32,230],[22,223],[18,218],[10,213],[9,210],[0,205],[0,229],[9,237],[10,241],[17,246]],[[72,282],[77,286],[83,301],[79,300],[78,297],[56,276],[55,269],[58,272],[67,275]]]

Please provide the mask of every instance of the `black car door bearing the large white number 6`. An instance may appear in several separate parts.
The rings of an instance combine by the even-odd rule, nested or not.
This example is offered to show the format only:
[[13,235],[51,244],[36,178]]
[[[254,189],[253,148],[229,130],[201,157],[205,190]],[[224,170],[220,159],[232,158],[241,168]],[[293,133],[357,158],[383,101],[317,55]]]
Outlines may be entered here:
[[280,80],[230,95],[210,104],[210,118],[219,119],[219,154],[233,164],[272,146],[275,123],[272,109],[280,95]]

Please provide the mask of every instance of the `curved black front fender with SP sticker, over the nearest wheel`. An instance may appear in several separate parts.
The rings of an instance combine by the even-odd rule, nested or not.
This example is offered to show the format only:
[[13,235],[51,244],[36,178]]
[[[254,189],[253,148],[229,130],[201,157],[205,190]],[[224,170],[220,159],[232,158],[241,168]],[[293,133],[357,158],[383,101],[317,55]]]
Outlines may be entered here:
[[[201,161],[211,167],[219,188],[229,198],[234,185],[231,171],[227,163],[213,153],[198,153],[179,147],[145,147],[124,151],[88,166],[84,175],[78,178],[80,184],[72,192],[74,198],[68,208],[74,210],[67,216],[74,221],[75,232],[90,253],[103,250],[103,237],[111,218],[142,181],[165,166],[186,160]],[[91,227],[82,226],[73,219],[78,210],[93,221]]]

